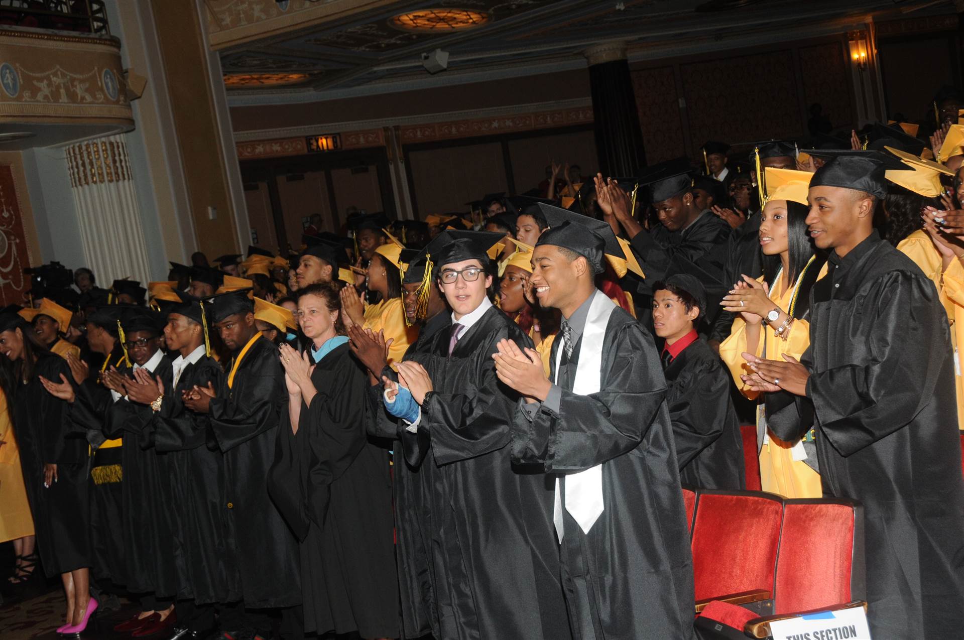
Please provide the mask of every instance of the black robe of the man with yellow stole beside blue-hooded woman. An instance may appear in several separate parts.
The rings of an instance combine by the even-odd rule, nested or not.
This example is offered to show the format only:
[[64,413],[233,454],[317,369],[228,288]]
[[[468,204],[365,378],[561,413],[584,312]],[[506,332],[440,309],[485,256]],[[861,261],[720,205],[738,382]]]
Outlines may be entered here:
[[[228,362],[228,372],[237,357]],[[224,377],[208,414],[213,439],[208,445],[225,454],[222,517],[228,582],[239,580],[245,605],[252,608],[294,606],[302,598],[298,541],[267,485],[287,400],[278,347],[260,337],[240,360],[231,387]]]

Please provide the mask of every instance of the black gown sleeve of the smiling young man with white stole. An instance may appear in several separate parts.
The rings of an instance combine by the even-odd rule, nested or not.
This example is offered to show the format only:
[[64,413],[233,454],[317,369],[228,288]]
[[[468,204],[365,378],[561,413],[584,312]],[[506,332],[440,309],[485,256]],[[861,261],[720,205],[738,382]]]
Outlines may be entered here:
[[606,352],[613,356],[611,366],[603,367],[603,390],[590,395],[564,390],[559,413],[543,404],[531,422],[521,407],[516,410],[515,462],[543,463],[547,471],[578,471],[639,445],[663,402],[666,382],[653,340],[643,329],[628,323],[615,331],[619,333]]

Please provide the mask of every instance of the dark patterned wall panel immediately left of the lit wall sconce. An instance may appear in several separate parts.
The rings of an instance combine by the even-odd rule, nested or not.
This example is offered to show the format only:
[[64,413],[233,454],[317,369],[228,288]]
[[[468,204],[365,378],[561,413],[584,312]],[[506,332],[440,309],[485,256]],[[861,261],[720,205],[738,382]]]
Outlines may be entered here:
[[807,108],[814,103],[823,107],[823,114],[834,127],[851,124],[854,120],[850,98],[850,71],[840,42],[827,42],[798,49],[803,73],[803,96]]

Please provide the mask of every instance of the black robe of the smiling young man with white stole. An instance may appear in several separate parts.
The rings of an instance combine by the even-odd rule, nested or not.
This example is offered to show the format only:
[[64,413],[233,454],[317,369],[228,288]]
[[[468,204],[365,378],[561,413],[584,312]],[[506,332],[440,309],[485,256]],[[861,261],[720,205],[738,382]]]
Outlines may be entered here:
[[[552,342],[551,380],[561,343]],[[520,406],[513,427],[514,460],[544,465],[563,483],[568,472],[603,466],[605,506],[589,533],[563,509],[575,637],[690,638],[693,566],[666,383],[653,338],[621,308],[603,338],[601,389],[564,388],[559,413],[542,404],[531,421]]]

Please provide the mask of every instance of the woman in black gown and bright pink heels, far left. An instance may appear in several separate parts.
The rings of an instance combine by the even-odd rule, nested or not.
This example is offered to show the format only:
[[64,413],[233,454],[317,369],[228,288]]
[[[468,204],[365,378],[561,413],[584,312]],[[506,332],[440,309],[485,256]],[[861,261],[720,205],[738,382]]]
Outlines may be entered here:
[[0,352],[13,361],[11,415],[40,562],[48,577],[60,573],[67,595],[67,624],[58,630],[81,631],[88,609],[93,613],[97,607],[90,595],[88,446],[82,435],[70,433],[67,402],[42,383],[73,378],[67,362],[47,351],[30,325],[13,313],[0,314]]

